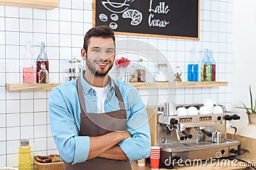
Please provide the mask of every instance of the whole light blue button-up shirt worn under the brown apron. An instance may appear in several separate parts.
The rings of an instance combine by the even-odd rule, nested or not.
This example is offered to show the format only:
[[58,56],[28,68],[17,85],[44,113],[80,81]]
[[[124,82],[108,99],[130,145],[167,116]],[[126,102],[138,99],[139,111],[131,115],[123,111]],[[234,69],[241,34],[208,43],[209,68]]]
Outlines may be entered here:
[[[106,112],[120,110],[115,95],[114,84],[106,95],[104,109]],[[131,85],[115,81],[124,99],[127,111],[127,131],[132,138],[118,143],[129,160],[147,158],[150,153],[150,131],[147,111],[141,101],[140,94]],[[97,113],[97,96],[95,90],[89,85],[81,74],[84,101],[87,113]],[[81,124],[80,104],[76,89],[76,80],[62,83],[52,89],[49,96],[49,116],[51,131],[56,146],[64,162],[76,164],[87,160],[90,150],[89,136],[79,136]]]

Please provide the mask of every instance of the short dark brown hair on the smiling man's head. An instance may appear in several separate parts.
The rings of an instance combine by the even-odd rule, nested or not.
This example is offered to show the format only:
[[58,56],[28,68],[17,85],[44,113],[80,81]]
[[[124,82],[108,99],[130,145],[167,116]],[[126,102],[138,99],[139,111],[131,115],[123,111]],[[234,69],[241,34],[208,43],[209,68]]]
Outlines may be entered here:
[[86,32],[85,36],[84,36],[84,50],[87,54],[88,51],[88,45],[90,43],[90,38],[91,37],[102,37],[102,38],[112,38],[114,41],[114,45],[116,47],[116,43],[115,43],[115,34],[113,29],[111,29],[110,27],[106,26],[106,25],[100,25],[97,27],[93,27],[92,29],[90,29],[88,32]]

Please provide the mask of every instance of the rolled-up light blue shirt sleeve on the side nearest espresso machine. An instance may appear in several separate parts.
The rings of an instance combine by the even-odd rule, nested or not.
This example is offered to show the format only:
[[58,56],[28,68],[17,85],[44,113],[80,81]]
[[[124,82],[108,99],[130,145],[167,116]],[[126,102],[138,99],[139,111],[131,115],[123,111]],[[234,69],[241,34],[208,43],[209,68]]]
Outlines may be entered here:
[[151,139],[145,104],[138,91],[132,91],[129,98],[132,106],[128,109],[131,113],[127,120],[127,131],[130,132],[132,138],[127,138],[118,144],[129,160],[138,160],[149,157]]

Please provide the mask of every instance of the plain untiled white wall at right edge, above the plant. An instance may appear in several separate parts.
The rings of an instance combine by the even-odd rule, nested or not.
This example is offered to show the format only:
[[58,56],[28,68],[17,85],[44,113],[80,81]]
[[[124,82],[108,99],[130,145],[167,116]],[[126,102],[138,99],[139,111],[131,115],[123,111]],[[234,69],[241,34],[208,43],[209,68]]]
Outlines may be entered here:
[[234,67],[232,84],[232,107],[241,115],[241,121],[234,122],[238,127],[248,124],[245,110],[234,108],[250,106],[249,85],[256,94],[256,1],[234,1]]

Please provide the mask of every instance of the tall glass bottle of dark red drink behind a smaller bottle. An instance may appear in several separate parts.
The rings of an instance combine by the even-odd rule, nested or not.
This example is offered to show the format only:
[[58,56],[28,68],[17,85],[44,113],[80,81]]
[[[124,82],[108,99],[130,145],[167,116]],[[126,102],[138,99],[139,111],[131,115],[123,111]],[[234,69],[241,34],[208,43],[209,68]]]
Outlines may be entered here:
[[45,69],[47,69],[47,71],[49,72],[49,62],[48,62],[47,55],[45,53],[45,44],[44,43],[41,43],[40,54],[38,55],[38,57],[36,59],[36,83],[39,83],[38,73],[41,69],[42,63],[45,64]]

